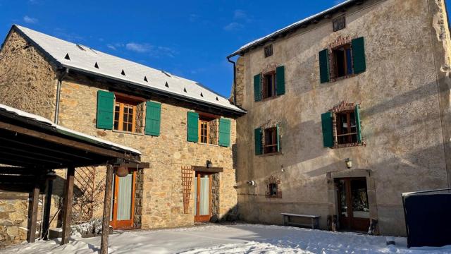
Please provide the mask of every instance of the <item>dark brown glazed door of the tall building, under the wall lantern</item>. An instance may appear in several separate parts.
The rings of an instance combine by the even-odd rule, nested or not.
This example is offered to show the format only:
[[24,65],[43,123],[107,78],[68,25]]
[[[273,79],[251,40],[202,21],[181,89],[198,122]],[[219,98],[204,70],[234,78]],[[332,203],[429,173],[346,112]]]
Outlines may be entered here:
[[365,178],[337,180],[340,229],[367,231],[369,202]]

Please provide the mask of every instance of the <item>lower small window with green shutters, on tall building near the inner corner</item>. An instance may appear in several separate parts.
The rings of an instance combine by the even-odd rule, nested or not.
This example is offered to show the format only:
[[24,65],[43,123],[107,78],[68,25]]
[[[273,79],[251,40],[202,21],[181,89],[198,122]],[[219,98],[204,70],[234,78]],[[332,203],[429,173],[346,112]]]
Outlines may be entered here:
[[280,152],[280,126],[257,128],[254,132],[255,155],[276,154]]

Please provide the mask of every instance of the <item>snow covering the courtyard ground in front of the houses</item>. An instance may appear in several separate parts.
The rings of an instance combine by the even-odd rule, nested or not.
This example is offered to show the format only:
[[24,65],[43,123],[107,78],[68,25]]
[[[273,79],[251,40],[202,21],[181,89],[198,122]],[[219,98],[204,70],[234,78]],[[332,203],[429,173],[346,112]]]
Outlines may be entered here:
[[[289,226],[259,224],[206,225],[154,231],[122,231],[110,235],[109,253],[451,253],[442,248],[407,248],[406,238],[386,246],[383,236],[334,233]],[[23,243],[2,253],[97,253],[100,237]]]

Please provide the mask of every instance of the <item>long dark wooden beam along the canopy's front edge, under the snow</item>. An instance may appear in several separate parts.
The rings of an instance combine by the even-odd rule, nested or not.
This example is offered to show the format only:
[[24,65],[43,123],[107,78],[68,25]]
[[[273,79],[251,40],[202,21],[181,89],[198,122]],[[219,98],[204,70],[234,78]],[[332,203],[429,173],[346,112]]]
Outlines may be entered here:
[[101,147],[96,147],[94,145],[88,145],[86,143],[81,143],[75,140],[70,140],[67,138],[61,138],[58,137],[56,135],[50,135],[47,133],[42,133],[39,131],[33,131],[27,128],[23,128],[20,126],[15,126],[11,123],[4,123],[4,122],[0,122],[0,128],[4,128],[5,130],[8,131],[13,131],[16,133],[20,133],[23,135],[29,135],[35,138],[40,138],[43,140],[47,140],[51,143],[57,143],[57,144],[61,144],[61,145],[66,145],[68,147],[75,147],[77,149],[80,150],[85,150],[88,152],[92,152],[95,153],[97,155],[104,155],[107,157],[116,157],[116,158],[124,158],[124,159],[128,159],[130,161],[137,161],[137,159],[132,156],[132,155],[128,155],[126,153],[122,153],[122,152],[116,152],[116,151],[112,151],[109,149],[105,149],[105,148],[101,148]]

